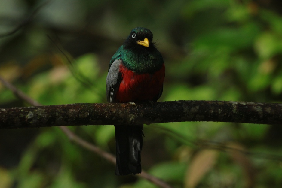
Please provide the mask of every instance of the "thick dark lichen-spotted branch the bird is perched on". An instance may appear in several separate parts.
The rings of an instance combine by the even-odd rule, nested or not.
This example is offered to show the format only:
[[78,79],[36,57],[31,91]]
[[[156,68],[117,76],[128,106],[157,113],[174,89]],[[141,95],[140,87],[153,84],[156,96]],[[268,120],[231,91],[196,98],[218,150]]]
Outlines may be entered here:
[[0,109],[0,129],[78,125],[138,125],[214,121],[278,124],[282,104],[233,101],[167,101],[153,106],[127,103],[51,105]]

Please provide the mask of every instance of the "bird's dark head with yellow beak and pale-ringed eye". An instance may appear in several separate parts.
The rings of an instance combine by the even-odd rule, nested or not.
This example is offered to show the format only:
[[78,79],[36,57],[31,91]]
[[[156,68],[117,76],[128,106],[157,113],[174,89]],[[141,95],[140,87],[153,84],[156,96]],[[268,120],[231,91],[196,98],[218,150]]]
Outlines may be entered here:
[[152,39],[153,34],[149,29],[144,27],[136,27],[130,32],[125,44],[127,46],[141,45],[144,47],[150,47],[150,45],[153,46]]

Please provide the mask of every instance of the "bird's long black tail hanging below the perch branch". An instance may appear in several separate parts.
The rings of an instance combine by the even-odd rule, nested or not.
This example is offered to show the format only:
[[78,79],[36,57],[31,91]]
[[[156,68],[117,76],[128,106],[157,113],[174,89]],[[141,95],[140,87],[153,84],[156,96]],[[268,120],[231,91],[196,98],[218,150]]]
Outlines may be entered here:
[[143,125],[115,126],[116,175],[141,173]]

